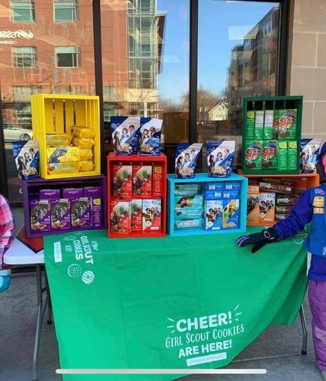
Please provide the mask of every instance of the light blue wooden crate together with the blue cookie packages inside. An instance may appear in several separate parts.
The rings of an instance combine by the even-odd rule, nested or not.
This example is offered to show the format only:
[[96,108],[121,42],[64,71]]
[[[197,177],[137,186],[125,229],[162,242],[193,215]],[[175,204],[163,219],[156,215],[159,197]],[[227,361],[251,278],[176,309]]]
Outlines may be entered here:
[[[245,231],[247,215],[245,177],[232,173],[231,177],[214,178],[208,177],[206,173],[196,173],[194,179],[183,180],[176,179],[174,175],[167,175],[167,184],[169,193],[167,226],[170,235]],[[188,194],[192,190],[196,190],[196,193]],[[198,211],[203,213],[198,215]]]

